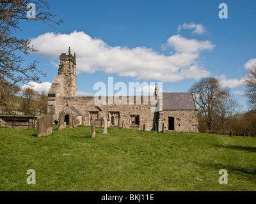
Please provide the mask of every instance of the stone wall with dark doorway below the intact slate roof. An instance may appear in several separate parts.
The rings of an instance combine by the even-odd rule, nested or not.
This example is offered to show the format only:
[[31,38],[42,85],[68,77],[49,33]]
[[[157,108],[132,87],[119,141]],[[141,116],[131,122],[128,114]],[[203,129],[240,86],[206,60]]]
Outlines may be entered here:
[[168,117],[174,117],[174,131],[198,133],[196,110],[164,110],[164,131],[168,131]]

